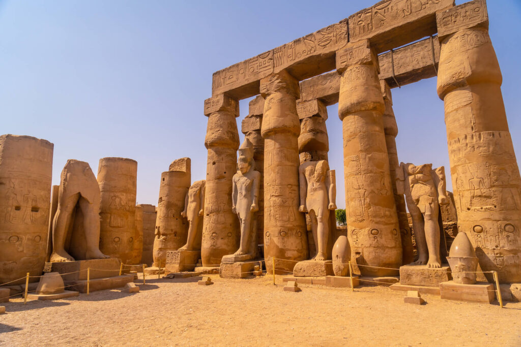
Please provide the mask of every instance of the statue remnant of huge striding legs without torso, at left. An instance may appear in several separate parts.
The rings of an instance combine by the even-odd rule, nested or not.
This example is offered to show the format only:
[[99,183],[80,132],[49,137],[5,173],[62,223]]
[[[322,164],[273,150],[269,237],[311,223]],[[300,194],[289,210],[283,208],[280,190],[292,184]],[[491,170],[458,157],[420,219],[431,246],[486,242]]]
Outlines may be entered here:
[[58,208],[53,219],[51,262],[74,261],[65,250],[71,239],[76,209],[83,214],[85,259],[109,258],[100,251],[100,186],[88,163],[69,159],[58,190]]

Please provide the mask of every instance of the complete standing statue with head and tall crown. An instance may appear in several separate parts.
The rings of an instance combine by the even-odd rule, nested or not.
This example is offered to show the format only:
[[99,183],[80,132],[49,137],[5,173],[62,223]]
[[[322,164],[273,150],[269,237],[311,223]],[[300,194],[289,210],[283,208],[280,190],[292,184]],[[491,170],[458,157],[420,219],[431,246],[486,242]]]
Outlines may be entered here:
[[254,255],[255,213],[258,211],[258,195],[261,173],[254,170],[253,144],[244,139],[239,148],[238,171],[233,175],[232,211],[239,216],[241,242],[233,255]]

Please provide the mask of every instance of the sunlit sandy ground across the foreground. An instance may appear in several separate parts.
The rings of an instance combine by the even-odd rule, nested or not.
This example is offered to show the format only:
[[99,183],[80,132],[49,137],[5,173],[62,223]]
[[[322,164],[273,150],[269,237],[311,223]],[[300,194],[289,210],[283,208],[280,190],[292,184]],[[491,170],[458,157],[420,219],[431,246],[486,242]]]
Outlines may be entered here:
[[[521,303],[403,302],[386,287],[301,285],[271,277],[148,279],[135,294],[103,290],[5,303],[0,345],[521,345]],[[141,282],[138,280],[137,283]]]

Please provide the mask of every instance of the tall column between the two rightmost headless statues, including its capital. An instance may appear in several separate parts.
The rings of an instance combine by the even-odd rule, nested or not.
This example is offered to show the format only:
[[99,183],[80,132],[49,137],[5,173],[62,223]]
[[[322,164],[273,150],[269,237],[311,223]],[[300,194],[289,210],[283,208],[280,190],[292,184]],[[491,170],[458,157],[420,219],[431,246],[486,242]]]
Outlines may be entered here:
[[[385,107],[378,60],[369,42],[350,43],[337,52],[337,70],[351,259],[357,265],[398,269],[402,246],[383,130]],[[367,266],[359,271],[364,276],[398,273]]]

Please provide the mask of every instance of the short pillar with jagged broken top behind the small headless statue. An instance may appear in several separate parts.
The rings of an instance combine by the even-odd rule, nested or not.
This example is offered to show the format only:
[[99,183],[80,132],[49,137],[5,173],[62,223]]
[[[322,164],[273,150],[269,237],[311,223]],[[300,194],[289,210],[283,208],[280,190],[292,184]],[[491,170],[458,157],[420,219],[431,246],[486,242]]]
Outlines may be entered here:
[[187,242],[188,222],[181,216],[184,197],[187,196],[191,179],[190,158],[172,161],[168,171],[161,174],[154,251],[151,269],[154,274],[159,266],[165,267],[166,252],[175,251]]

